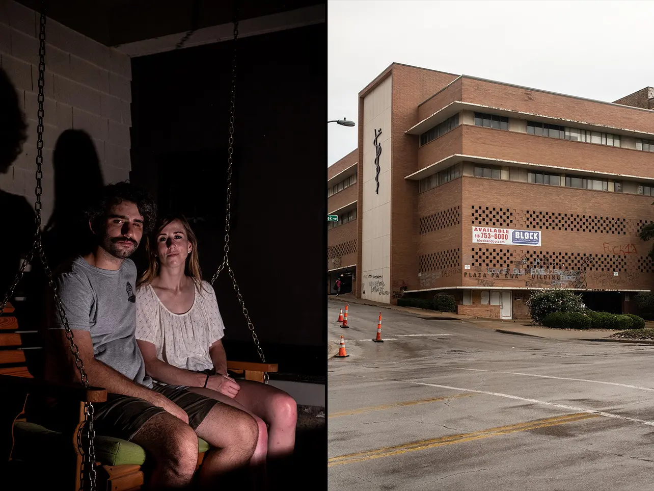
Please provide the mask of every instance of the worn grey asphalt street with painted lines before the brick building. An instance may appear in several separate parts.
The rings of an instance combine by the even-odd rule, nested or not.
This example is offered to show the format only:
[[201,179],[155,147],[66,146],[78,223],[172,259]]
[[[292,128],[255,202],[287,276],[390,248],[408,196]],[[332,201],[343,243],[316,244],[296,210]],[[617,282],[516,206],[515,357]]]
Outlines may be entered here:
[[330,490],[654,490],[654,346],[328,300]]

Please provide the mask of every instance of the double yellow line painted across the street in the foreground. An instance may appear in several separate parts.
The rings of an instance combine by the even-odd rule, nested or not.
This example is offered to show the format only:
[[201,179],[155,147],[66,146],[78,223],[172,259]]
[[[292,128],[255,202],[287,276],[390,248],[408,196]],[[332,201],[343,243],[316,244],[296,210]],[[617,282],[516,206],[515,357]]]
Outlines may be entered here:
[[354,462],[362,462],[364,460],[371,460],[380,457],[404,454],[405,452],[415,452],[415,450],[424,450],[425,448],[434,448],[436,446],[451,445],[453,443],[463,443],[466,441],[479,440],[479,439],[494,437],[498,435],[508,435],[509,433],[516,433],[517,431],[526,431],[528,429],[537,429],[547,426],[555,426],[559,424],[571,423],[575,421],[587,420],[589,418],[598,418],[598,417],[599,417],[598,414],[577,412],[574,414],[564,414],[563,416],[555,416],[553,418],[545,418],[542,420],[517,423],[508,426],[500,426],[496,428],[484,429],[481,431],[473,431],[472,433],[464,433],[462,435],[449,435],[447,437],[439,437],[430,440],[404,443],[403,445],[385,446],[382,448],[377,448],[375,450],[368,450],[367,452],[356,452],[354,454],[332,457],[327,460],[328,462],[327,467],[334,467],[334,465],[341,465],[341,464],[353,464]]

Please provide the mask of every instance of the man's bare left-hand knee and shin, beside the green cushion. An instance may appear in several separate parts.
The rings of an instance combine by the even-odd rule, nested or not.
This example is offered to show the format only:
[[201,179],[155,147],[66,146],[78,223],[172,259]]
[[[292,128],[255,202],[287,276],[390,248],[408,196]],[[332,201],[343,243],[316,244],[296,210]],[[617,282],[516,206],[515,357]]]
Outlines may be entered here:
[[153,416],[131,439],[154,457],[150,489],[186,488],[198,464],[198,436],[167,412]]

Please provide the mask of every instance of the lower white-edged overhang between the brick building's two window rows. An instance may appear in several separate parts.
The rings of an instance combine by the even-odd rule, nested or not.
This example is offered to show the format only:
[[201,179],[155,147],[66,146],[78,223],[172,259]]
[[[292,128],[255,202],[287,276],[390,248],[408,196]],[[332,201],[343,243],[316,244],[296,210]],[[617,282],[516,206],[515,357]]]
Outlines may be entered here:
[[[509,166],[509,167],[518,167],[525,168],[528,170],[541,170],[548,172],[559,173],[575,173],[575,174],[585,174],[585,175],[596,175],[597,177],[606,177],[607,179],[630,179],[637,181],[644,181],[648,183],[654,183],[654,177],[643,177],[642,175],[630,175],[630,174],[621,174],[621,173],[611,173],[611,172],[596,172],[593,170],[579,169],[574,167],[562,167],[562,166],[546,166],[543,164],[534,164],[532,162],[519,162],[517,160],[502,160],[500,158],[489,158],[482,157],[477,155],[464,155],[460,153],[455,153],[449,155],[445,158],[442,158],[438,162],[434,162],[421,170],[409,174],[404,177],[407,181],[419,181],[424,179],[428,175],[432,175],[435,172],[439,172],[443,169],[447,169],[449,166],[458,164],[458,162],[473,162],[474,164],[486,164],[486,165],[496,165],[496,166]],[[512,181],[513,182],[513,181]]]

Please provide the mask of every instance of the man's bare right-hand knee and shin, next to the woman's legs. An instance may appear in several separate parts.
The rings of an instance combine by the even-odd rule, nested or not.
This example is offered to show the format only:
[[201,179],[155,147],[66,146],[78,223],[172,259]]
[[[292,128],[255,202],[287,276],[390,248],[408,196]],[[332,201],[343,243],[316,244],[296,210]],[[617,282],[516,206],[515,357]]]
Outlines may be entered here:
[[247,466],[254,453],[258,428],[247,412],[219,404],[209,411],[196,433],[214,447],[205,454],[198,484],[201,488],[215,489],[221,475]]

